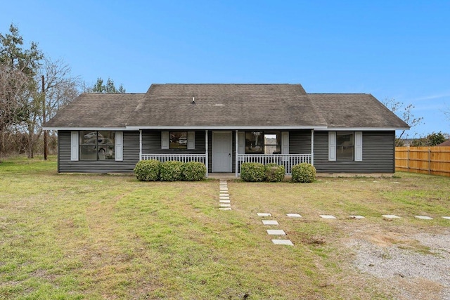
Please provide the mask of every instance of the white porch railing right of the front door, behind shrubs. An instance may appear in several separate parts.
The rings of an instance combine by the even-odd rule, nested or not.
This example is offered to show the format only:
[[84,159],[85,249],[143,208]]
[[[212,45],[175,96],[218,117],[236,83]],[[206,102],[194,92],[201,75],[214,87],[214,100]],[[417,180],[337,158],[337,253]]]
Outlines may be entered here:
[[244,162],[259,162],[260,164],[278,164],[283,166],[287,175],[292,174],[296,164],[307,162],[311,164],[310,154],[238,154],[238,173]]

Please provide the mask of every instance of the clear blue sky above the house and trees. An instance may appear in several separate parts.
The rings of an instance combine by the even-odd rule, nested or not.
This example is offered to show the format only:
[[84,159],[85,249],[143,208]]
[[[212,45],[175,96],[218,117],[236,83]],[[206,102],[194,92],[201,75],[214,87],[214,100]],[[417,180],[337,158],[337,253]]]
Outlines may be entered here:
[[[40,3],[39,3],[40,2]],[[28,45],[94,84],[289,83],[413,104],[450,133],[450,1],[7,1]]]

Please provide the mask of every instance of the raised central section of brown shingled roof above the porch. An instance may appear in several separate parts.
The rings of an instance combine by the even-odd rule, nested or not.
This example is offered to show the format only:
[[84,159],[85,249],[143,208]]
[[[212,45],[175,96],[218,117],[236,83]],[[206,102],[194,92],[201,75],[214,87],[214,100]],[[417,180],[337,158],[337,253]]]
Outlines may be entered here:
[[326,122],[300,84],[152,84],[128,126],[311,128]]

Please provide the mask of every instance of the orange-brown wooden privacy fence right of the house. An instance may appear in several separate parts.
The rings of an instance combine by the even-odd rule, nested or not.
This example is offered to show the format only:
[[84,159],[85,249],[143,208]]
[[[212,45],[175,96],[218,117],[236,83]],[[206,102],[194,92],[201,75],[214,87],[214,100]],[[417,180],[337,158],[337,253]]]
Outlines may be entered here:
[[450,147],[396,147],[395,171],[450,176]]

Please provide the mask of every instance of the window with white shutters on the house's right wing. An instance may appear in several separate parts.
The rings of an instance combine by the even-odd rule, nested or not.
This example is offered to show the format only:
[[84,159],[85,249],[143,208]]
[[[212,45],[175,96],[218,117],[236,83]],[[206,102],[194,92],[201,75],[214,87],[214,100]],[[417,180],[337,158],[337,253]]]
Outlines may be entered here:
[[362,131],[329,131],[328,160],[330,161],[362,161]]

